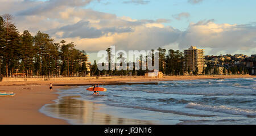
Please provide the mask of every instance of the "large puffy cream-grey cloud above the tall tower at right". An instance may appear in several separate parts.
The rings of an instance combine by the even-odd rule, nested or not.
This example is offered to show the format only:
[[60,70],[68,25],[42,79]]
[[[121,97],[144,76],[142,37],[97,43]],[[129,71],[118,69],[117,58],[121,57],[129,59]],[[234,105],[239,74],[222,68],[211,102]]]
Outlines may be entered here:
[[216,24],[212,20],[204,20],[189,24],[179,38],[179,48],[189,45],[210,48],[210,54],[235,53],[237,50],[249,52],[256,47],[256,25]]

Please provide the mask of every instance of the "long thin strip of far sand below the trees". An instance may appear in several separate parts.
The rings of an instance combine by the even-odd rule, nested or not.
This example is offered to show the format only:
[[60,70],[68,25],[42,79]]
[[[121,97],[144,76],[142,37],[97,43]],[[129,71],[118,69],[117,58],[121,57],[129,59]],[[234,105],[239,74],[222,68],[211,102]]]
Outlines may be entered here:
[[[99,79],[92,78],[86,80],[38,80],[38,81],[13,81],[0,82],[0,86],[26,86],[26,85],[48,85],[52,84],[101,84],[101,83],[129,83],[129,82],[156,82],[168,80],[197,80],[197,79],[230,79],[230,78],[256,78],[256,75],[193,75],[193,76],[164,76],[163,78],[145,78],[143,76],[118,76]],[[76,79],[76,78],[74,78]],[[1,90],[1,89],[0,89]]]

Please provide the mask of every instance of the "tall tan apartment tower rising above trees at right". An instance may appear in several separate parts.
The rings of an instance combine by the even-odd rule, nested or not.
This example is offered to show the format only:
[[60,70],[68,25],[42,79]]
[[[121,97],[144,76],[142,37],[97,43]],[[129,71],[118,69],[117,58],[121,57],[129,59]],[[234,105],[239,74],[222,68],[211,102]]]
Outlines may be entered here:
[[204,50],[197,49],[196,46],[191,46],[189,49],[184,50],[183,65],[187,71],[196,71],[196,68],[198,68],[198,73],[203,73],[205,65]]

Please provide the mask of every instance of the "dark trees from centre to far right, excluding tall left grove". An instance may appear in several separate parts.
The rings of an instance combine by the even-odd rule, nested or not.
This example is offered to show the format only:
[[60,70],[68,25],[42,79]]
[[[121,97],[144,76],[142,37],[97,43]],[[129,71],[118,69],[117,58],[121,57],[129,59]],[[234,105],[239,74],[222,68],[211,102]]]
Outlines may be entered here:
[[[204,66],[203,72],[199,73],[198,67],[196,67],[195,71],[192,71],[191,69],[185,69],[186,64],[184,63],[184,54],[180,50],[166,50],[162,48],[157,49],[159,52],[159,71],[161,71],[164,75],[184,75],[185,73],[193,74],[193,75],[218,75],[220,73],[223,74],[249,74],[249,70],[246,69],[246,67],[240,65],[230,65],[229,67],[223,67],[222,71],[218,70],[216,65],[211,65],[210,63],[206,63],[206,66]],[[110,69],[110,63],[113,63],[110,58],[113,58],[110,54],[110,48],[106,49],[108,52],[108,59],[109,62],[109,69]],[[153,51],[152,51],[153,52]],[[147,56],[145,56],[147,58]],[[146,60],[146,58],[144,60]],[[152,55],[152,59],[154,60],[154,55]],[[123,59],[122,54],[118,54],[117,59]],[[92,76],[130,76],[130,75],[144,75],[145,73],[148,73],[148,70],[144,71],[142,70],[142,60],[143,56],[140,56],[139,58],[139,65],[140,69],[135,70],[121,70],[117,71],[117,69],[114,70],[108,70],[108,71],[99,71],[97,69],[97,62],[94,61],[91,69],[91,75]],[[154,64],[154,62],[153,62]],[[122,63],[121,63],[122,66]],[[133,62],[133,66],[135,67],[135,63]],[[185,66],[185,67],[184,67]]]

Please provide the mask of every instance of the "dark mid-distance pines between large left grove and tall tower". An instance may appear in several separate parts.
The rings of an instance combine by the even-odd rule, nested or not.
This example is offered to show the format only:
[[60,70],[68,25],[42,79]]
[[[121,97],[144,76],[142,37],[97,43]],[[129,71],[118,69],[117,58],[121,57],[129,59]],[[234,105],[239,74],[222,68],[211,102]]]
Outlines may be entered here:
[[[184,74],[184,70],[183,70],[183,53],[180,52],[179,50],[168,50],[168,53],[166,54],[167,50],[166,49],[162,49],[162,48],[158,48],[157,49],[159,52],[159,71],[162,71],[163,74],[165,75],[183,75]],[[109,62],[109,69],[110,69],[110,65],[112,62],[112,60],[110,58],[113,58],[113,56],[111,56],[110,54],[110,48],[106,49],[106,51],[108,52],[108,59],[107,62]],[[152,61],[152,65],[154,65],[154,50],[151,50],[152,52],[152,58],[150,58],[149,60]],[[139,61],[139,70],[135,70],[135,62],[133,63],[133,70],[121,70],[118,71],[115,67],[114,70],[103,70],[100,71],[97,69],[97,65],[98,63],[96,62],[96,60],[94,60],[94,63],[92,65],[91,68],[91,75],[92,76],[130,76],[130,75],[144,75],[145,73],[148,73],[148,69],[147,70],[142,70],[142,62],[143,60],[147,60],[148,56],[139,56],[139,58],[137,58]],[[117,59],[120,61],[122,59],[125,59],[122,54],[118,54]],[[125,60],[127,62],[127,60]],[[127,62],[128,63],[128,62]],[[103,65],[103,64],[102,64]],[[122,63],[120,64],[122,66]],[[127,64],[128,65],[128,64]]]

